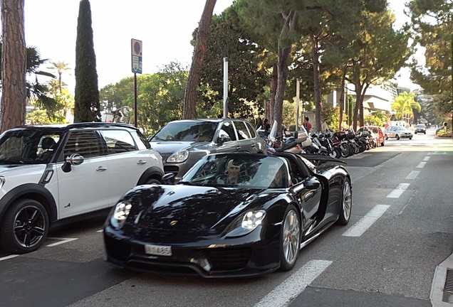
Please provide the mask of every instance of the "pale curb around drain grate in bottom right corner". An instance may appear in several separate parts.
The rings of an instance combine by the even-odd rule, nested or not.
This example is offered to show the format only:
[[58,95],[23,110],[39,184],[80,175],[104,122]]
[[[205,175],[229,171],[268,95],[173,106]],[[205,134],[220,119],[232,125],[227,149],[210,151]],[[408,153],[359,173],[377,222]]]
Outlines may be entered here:
[[447,270],[453,270],[453,254],[445,259],[444,262],[436,266],[434,271],[431,293],[429,293],[429,298],[431,299],[433,307],[453,307],[453,293],[449,295],[450,302],[444,301],[444,286],[445,280],[447,279]]

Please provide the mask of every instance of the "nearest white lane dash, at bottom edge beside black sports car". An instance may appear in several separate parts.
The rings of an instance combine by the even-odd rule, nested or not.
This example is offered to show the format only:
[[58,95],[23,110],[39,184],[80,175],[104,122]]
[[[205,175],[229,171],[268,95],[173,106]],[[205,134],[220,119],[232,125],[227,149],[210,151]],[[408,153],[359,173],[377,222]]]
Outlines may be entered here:
[[264,296],[255,307],[286,307],[306,287],[311,284],[328,266],[332,264],[328,260],[311,260],[296,273],[279,284],[274,290]]

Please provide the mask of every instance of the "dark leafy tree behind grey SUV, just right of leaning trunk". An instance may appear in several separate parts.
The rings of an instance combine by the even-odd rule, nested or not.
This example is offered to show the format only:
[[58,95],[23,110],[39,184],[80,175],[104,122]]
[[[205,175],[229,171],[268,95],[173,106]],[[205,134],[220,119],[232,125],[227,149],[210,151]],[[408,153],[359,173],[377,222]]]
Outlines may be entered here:
[[[262,48],[250,41],[244,31],[235,30],[224,16],[214,18],[210,26],[207,52],[204,55],[197,108],[217,109],[215,117],[223,116],[214,106],[224,97],[224,58],[228,58],[229,117],[251,119],[258,109],[261,113],[264,87],[269,79],[259,68]],[[197,117],[199,117],[197,112]]]

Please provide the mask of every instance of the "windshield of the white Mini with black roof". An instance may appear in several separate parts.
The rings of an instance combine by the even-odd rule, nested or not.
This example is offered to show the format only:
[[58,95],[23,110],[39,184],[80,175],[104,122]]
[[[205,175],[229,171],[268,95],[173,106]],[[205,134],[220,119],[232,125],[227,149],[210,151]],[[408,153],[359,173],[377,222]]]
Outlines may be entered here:
[[49,131],[6,131],[0,136],[0,164],[48,163],[60,137]]

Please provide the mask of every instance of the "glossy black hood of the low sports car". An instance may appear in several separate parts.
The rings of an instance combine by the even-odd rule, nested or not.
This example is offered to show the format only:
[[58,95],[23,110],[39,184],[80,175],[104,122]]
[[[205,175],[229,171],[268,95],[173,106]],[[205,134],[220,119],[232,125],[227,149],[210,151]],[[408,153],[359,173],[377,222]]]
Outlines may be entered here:
[[127,220],[148,230],[219,234],[244,211],[262,208],[271,197],[263,193],[256,189],[145,185],[125,195],[133,204]]

